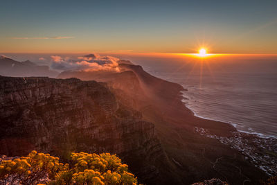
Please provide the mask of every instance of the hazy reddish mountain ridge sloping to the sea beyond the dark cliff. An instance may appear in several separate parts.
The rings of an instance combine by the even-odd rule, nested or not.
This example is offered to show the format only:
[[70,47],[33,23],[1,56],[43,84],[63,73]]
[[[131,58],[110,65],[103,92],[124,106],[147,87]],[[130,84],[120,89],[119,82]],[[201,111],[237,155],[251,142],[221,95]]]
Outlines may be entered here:
[[[185,90],[181,85],[156,78],[141,66],[119,64],[119,67],[119,73],[64,71],[58,78],[107,82],[120,103],[141,112],[143,120],[153,123],[172,166],[168,177],[163,178],[178,179],[174,184],[191,184],[212,178],[229,184],[258,184],[260,179],[268,177],[247,159],[249,156],[245,157],[226,144],[236,141],[235,127],[193,115],[181,102],[180,91]],[[249,142],[254,140],[249,139]]]

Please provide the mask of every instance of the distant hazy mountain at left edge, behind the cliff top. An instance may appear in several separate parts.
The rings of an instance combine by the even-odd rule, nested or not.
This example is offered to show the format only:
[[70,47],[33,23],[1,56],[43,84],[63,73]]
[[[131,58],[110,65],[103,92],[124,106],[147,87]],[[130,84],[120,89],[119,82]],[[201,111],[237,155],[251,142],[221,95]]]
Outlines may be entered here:
[[0,75],[1,76],[48,76],[55,78],[56,71],[52,71],[48,66],[39,66],[29,60],[17,62],[3,55],[0,56]]

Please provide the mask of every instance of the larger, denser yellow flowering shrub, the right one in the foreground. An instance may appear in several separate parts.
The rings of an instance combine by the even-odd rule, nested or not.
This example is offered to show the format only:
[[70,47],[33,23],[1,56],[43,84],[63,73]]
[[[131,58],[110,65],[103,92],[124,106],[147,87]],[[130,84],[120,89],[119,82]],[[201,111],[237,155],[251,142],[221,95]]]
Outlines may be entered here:
[[[136,177],[128,173],[128,166],[121,164],[116,155],[80,152],[72,153],[71,159],[73,168],[57,173],[52,184],[137,184]],[[65,177],[68,180],[64,180]]]

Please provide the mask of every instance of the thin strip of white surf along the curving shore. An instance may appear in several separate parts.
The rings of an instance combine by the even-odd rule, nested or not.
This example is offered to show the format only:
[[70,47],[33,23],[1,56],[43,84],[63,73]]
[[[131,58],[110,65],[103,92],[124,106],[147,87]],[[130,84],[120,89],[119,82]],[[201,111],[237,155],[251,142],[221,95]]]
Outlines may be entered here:
[[[183,86],[182,86],[183,87]],[[184,87],[184,89],[186,89]],[[222,123],[227,123],[229,125],[232,125],[233,127],[235,127],[235,129],[238,131],[238,132],[242,132],[244,134],[251,134],[253,136],[257,136],[258,138],[261,138],[261,139],[277,139],[277,136],[272,136],[272,135],[265,135],[265,134],[262,134],[262,133],[259,133],[259,132],[247,132],[247,131],[244,131],[244,130],[240,130],[239,127],[238,127],[238,124],[237,123],[233,123],[231,121],[222,121],[222,120],[219,120],[219,119],[215,119],[215,118],[206,118],[204,116],[201,116],[199,114],[197,114],[196,112],[193,111],[193,109],[191,107],[188,107],[188,102],[186,102],[185,100],[189,100],[189,98],[187,96],[185,96],[186,94],[186,91],[180,91],[181,93],[181,96],[183,97],[181,99],[181,102],[184,103],[184,105],[186,106],[186,108],[190,109],[191,112],[193,112],[193,116],[196,116],[198,118],[203,118],[203,119],[206,119],[206,120],[210,120],[210,121],[218,121],[218,122],[222,122]]]

